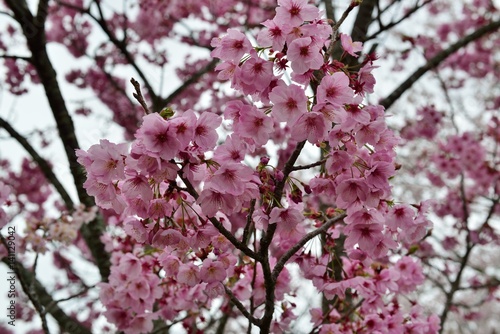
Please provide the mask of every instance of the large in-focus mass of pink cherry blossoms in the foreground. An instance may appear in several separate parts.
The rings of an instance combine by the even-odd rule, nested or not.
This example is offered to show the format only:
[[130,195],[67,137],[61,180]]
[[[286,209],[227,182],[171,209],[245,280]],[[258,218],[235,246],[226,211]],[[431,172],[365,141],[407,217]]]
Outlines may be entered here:
[[[286,252],[311,227],[328,224],[320,212],[327,205],[330,218],[345,219],[331,225],[326,242],[335,244],[344,235],[345,267],[356,270],[344,270],[336,281],[325,261],[336,256],[331,250],[318,258],[300,248],[291,261],[306,266],[310,255],[308,265],[315,267],[303,276],[327,298],[358,291],[366,299],[362,317],[372,319],[373,328],[382,327],[386,309],[397,326],[435,332],[429,324],[435,319],[415,311],[408,321],[394,303],[389,311],[383,298],[420,284],[418,263],[404,257],[393,268],[370,269],[376,260],[390,266],[389,252],[398,243],[419,242],[430,226],[425,205],[415,213],[391,199],[398,138],[385,124],[384,109],[363,103],[375,83],[374,57],[351,73],[329,59],[337,36],[315,6],[306,0],[278,4],[257,35],[259,46],[237,29],[211,42],[212,56],[221,59],[219,79],[248,99],[227,102],[223,117],[166,108],[143,117],[130,149],[101,140],[77,151],[87,192],[99,207],[115,212],[129,240],[108,245],[115,253],[109,283],[101,284],[106,316],[119,330],[148,332],[156,317],[174,320],[193,309],[201,314],[230,289],[255,316],[265,314],[266,299],[281,301],[284,312],[275,316],[273,331],[286,331],[295,317],[285,299],[292,293],[290,275],[285,267],[270,283],[266,270],[286,261]],[[346,53],[361,50],[350,37],[339,42]],[[309,84],[316,88],[311,91]],[[225,137],[222,127],[229,131]],[[267,157],[271,143],[280,146],[276,165]],[[315,165],[320,172],[302,168],[311,168],[314,177],[299,181],[290,174],[306,143],[322,149],[325,159]],[[260,162],[252,165],[248,156]],[[267,247],[262,240],[269,236],[269,253],[261,258],[257,254]],[[272,297],[266,284],[273,284]]]

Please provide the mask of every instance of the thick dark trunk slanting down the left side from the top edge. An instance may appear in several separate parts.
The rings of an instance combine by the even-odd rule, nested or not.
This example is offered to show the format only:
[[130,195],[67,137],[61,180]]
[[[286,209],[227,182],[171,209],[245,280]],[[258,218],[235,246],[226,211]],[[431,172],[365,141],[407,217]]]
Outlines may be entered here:
[[[86,207],[92,207],[95,205],[95,202],[83,188],[86,176],[83,168],[77,162],[75,150],[79,148],[79,144],[76,138],[73,120],[69,115],[66,102],[62,96],[54,66],[47,54],[47,38],[44,30],[44,22],[34,20],[24,0],[6,0],[5,3],[13,11],[15,19],[21,25],[23,34],[26,37],[28,49],[32,54],[32,64],[44,87],[45,95],[47,96],[52,114],[54,115],[54,120],[56,121],[59,136],[68,158],[69,168],[74,179],[78,197],[81,203]],[[103,281],[106,281],[110,273],[110,257],[104,249],[104,244],[100,240],[100,236],[104,229],[105,225],[102,216],[98,215],[93,222],[83,225],[80,231],[99,268]]]

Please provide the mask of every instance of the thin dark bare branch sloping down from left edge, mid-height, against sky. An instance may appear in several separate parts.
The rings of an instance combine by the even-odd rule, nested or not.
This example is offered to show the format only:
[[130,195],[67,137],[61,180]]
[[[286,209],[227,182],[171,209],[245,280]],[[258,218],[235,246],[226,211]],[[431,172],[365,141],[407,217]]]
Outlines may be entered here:
[[66,208],[70,211],[73,210],[74,204],[73,201],[71,200],[71,197],[69,196],[66,189],[64,189],[61,182],[59,182],[59,179],[52,171],[52,168],[50,167],[48,162],[44,158],[42,158],[37,151],[35,151],[33,146],[30,145],[30,143],[26,140],[26,138],[21,136],[19,132],[17,132],[7,121],[5,121],[1,117],[0,117],[0,127],[4,128],[5,131],[7,131],[9,135],[12,138],[14,138],[29,153],[31,158],[33,158],[33,160],[38,164],[38,167],[40,167],[40,170],[42,171],[47,181],[51,183],[54,186],[54,188],[56,188],[57,192],[64,201]]

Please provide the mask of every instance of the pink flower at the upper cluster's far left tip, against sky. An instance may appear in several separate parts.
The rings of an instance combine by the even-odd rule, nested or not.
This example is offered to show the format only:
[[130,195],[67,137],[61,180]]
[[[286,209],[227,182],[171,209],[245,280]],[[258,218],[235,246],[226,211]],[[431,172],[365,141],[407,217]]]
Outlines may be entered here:
[[245,53],[252,50],[248,38],[237,29],[228,29],[226,36],[212,39],[211,45],[215,47],[212,57],[235,62],[239,62]]

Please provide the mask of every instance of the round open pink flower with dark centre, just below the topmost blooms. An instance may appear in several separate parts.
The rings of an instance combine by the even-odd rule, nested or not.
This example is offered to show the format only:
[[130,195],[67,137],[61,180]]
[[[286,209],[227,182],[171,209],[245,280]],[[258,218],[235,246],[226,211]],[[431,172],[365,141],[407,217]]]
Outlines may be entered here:
[[312,42],[311,37],[298,38],[290,43],[287,58],[292,62],[292,70],[296,74],[317,70],[323,65],[321,46]]

